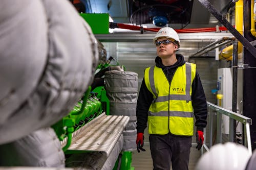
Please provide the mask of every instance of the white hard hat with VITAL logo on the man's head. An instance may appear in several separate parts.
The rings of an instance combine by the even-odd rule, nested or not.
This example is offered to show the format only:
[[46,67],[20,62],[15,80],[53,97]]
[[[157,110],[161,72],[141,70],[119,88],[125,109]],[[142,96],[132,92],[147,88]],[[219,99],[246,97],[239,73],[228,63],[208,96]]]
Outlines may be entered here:
[[153,41],[154,43],[156,42],[156,40],[160,37],[166,37],[166,38],[172,38],[174,39],[175,41],[177,41],[178,43],[178,48],[180,47],[180,39],[179,39],[179,36],[177,34],[177,32],[173,29],[173,28],[170,28],[170,27],[164,27],[164,28],[161,28],[156,36],[154,37]]

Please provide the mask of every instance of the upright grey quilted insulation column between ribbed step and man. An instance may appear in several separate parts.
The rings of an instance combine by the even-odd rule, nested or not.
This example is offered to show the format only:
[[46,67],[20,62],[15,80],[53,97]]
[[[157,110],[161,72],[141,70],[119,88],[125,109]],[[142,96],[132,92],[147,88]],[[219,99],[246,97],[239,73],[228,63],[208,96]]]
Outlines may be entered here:
[[111,70],[105,72],[106,95],[110,100],[110,114],[129,116],[123,131],[122,151],[136,150],[136,105],[138,74],[132,71]]

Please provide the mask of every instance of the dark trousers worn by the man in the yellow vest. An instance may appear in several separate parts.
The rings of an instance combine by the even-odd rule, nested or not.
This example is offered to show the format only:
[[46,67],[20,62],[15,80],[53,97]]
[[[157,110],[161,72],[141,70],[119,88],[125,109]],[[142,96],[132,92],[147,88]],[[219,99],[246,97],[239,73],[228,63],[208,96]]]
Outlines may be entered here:
[[150,150],[154,170],[187,170],[191,148],[191,136],[150,135]]

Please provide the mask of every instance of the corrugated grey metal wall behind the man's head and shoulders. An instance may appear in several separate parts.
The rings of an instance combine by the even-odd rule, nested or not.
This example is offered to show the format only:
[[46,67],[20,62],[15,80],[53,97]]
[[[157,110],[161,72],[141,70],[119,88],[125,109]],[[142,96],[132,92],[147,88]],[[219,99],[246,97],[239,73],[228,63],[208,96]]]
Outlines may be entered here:
[[[153,42],[102,42],[108,54],[114,57],[120,65],[124,65],[127,71],[137,72],[139,78],[139,88],[146,67],[155,64],[156,46]],[[177,53],[184,55],[188,61],[188,56],[196,53],[210,41],[181,41],[180,50]],[[215,56],[215,51],[211,51],[204,56]],[[215,58],[193,58],[190,62],[198,64],[199,72],[202,72],[201,80],[207,91],[209,102],[214,101],[215,96],[210,93],[212,88],[216,88],[218,64]]]

